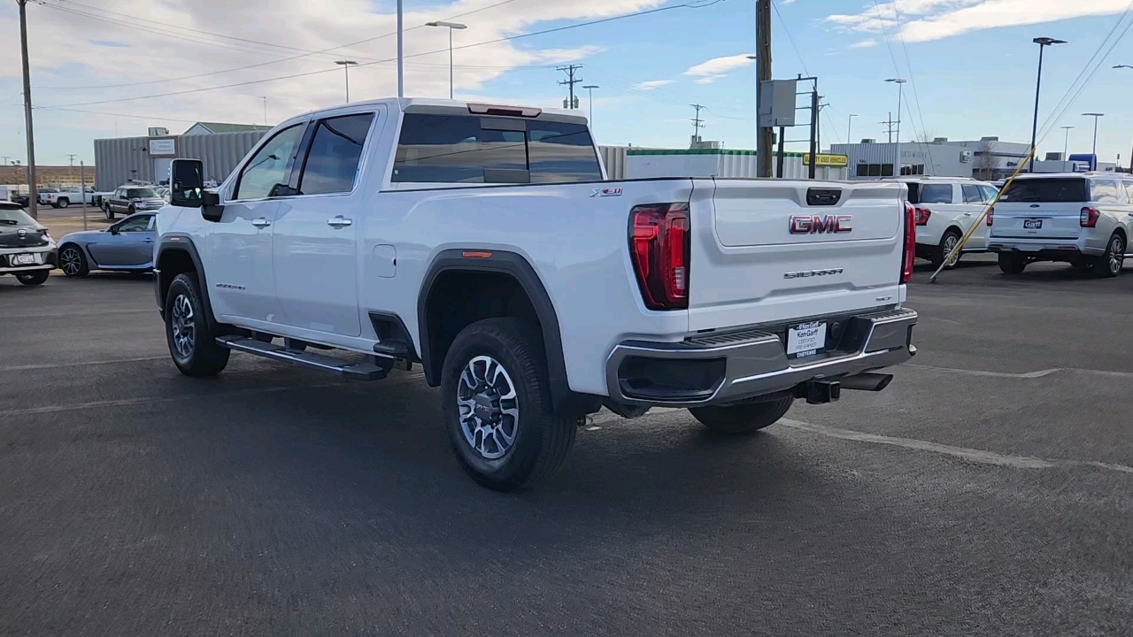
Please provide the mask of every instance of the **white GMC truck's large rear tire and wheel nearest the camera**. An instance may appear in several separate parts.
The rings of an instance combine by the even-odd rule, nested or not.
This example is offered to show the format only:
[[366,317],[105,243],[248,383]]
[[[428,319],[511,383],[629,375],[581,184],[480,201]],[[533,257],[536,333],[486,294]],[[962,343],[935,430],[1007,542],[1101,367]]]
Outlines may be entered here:
[[[477,372],[485,379],[491,372],[494,384]],[[526,321],[487,318],[461,330],[444,357],[441,396],[453,452],[487,489],[512,491],[550,477],[574,443],[578,418],[553,413],[542,334]]]

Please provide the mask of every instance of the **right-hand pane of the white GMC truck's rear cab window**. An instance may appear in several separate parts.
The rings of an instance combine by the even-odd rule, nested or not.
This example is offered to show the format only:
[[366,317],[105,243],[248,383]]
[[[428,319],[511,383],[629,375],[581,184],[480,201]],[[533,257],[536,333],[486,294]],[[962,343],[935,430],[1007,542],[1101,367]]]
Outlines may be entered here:
[[581,124],[527,122],[531,184],[598,181],[602,169],[590,131]]

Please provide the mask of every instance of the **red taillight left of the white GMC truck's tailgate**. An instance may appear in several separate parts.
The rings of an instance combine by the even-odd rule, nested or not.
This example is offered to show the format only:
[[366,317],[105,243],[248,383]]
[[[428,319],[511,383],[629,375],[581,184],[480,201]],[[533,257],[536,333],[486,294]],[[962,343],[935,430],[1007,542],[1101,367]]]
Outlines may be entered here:
[[649,204],[630,211],[630,256],[649,309],[689,306],[689,204]]

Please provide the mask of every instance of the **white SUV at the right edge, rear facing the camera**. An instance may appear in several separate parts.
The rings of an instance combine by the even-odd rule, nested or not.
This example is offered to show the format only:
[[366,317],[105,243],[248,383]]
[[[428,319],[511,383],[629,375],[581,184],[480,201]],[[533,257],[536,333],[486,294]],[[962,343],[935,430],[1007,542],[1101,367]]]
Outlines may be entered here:
[[1133,232],[1133,178],[1113,172],[1021,175],[988,216],[988,249],[1019,274],[1064,261],[1104,277],[1122,272]]

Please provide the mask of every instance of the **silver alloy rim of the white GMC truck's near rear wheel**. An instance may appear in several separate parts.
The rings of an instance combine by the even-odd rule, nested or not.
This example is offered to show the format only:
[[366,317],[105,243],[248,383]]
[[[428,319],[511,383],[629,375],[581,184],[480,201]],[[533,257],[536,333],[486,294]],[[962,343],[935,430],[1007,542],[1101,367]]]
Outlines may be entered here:
[[477,356],[460,373],[457,385],[460,431],[486,460],[503,458],[519,433],[519,398],[516,383],[499,360]]

